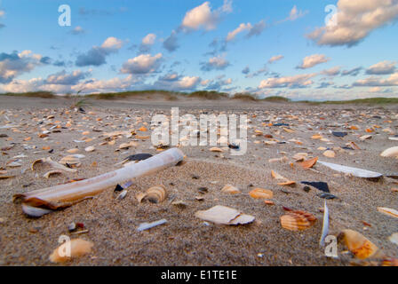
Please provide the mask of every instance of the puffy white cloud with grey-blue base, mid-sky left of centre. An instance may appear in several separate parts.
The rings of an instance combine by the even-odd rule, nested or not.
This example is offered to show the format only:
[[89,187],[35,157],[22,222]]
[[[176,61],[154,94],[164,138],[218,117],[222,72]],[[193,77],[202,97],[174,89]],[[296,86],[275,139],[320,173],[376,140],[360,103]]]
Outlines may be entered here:
[[157,53],[154,56],[150,54],[141,54],[124,62],[121,72],[125,74],[152,73],[160,66],[161,59],[162,53]]

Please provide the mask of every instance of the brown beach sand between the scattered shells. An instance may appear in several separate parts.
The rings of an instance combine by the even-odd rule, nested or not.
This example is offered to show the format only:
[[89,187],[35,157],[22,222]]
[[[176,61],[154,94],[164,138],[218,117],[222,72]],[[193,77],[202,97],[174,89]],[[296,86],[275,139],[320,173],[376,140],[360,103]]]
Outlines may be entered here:
[[[0,167],[7,174],[16,177],[0,179],[0,264],[1,265],[52,265],[49,256],[59,246],[60,235],[82,238],[94,243],[89,255],[81,256],[64,265],[351,265],[354,257],[338,244],[338,258],[326,257],[319,246],[322,231],[323,199],[320,191],[312,188],[306,193],[303,185],[295,187],[277,185],[271,177],[275,170],[284,177],[300,181],[323,181],[330,186],[330,193],[338,199],[329,200],[330,234],[338,235],[343,229],[353,229],[365,235],[382,248],[388,256],[398,257],[398,246],[388,237],[398,232],[398,218],[388,217],[377,211],[378,207],[398,209],[398,193],[391,189],[398,187],[393,178],[383,177],[371,181],[349,177],[330,170],[320,164],[314,170],[303,170],[291,157],[299,152],[319,156],[324,162],[381,172],[385,175],[398,174],[398,160],[380,157],[388,147],[397,146],[389,140],[398,134],[397,106],[309,106],[305,104],[250,103],[241,101],[151,101],[151,100],[89,100],[83,106],[85,114],[70,108],[70,99],[34,99],[4,97],[0,102],[0,126],[7,123],[20,124],[13,129],[0,129],[2,151]],[[212,153],[210,146],[185,146],[180,149],[187,155],[186,162],[178,167],[134,180],[122,201],[115,200],[113,188],[96,195],[92,200],[82,201],[68,209],[53,212],[40,218],[23,214],[20,204],[12,202],[15,193],[24,193],[44,187],[66,183],[74,178],[95,177],[109,170],[116,170],[123,159],[130,154],[159,152],[150,139],[138,139],[138,146],[115,152],[122,143],[132,138],[118,138],[114,146],[99,146],[104,141],[104,132],[114,130],[149,128],[153,114],[169,114],[171,106],[179,106],[180,114],[199,115],[208,113],[248,114],[251,128],[248,130],[247,154],[233,156],[228,151]],[[69,114],[66,114],[69,112]],[[5,117],[5,116],[6,117]],[[45,119],[54,115],[53,119]],[[130,120],[125,117],[130,115]],[[289,116],[291,115],[291,116]],[[267,126],[267,118],[279,117],[278,122],[290,124],[296,132],[288,133],[283,127]],[[142,122],[135,123],[141,117]],[[36,119],[35,119],[36,118]],[[70,118],[73,125],[51,132],[48,138],[39,138],[40,127],[47,130],[60,121],[65,127]],[[97,121],[97,118],[101,118]],[[44,123],[38,125],[39,121]],[[148,124],[145,125],[144,122]],[[264,124],[263,124],[264,123]],[[356,125],[359,130],[347,130]],[[374,128],[374,125],[380,128]],[[374,132],[365,130],[374,128]],[[101,130],[100,132],[92,131]],[[383,130],[390,129],[391,132]],[[84,131],[89,135],[83,135]],[[299,138],[303,144],[295,143],[265,145],[269,139],[253,137],[254,130],[262,130],[279,141]],[[345,138],[337,138],[330,130],[346,131]],[[311,139],[321,133],[333,144]],[[150,135],[150,132],[140,133]],[[370,134],[370,140],[360,140]],[[24,138],[31,137],[24,141]],[[93,138],[89,143],[74,140]],[[254,141],[260,141],[255,144]],[[361,150],[337,151],[335,158],[322,156],[319,146],[338,147],[354,141]],[[24,146],[36,146],[25,149]],[[43,150],[50,146],[53,152]],[[96,150],[86,153],[84,148],[95,146]],[[30,170],[31,162],[39,158],[52,157],[54,161],[68,155],[67,150],[78,147],[78,154],[84,154],[82,165],[76,173],[44,178],[50,167]],[[12,157],[20,158],[21,167],[10,168],[6,163]],[[289,162],[268,162],[269,159],[286,156]],[[92,163],[96,162],[97,165]],[[293,162],[293,167],[291,167]],[[193,178],[193,175],[198,178]],[[395,180],[396,181],[396,180]],[[151,185],[163,184],[168,198],[160,204],[139,204],[136,193],[144,192]],[[235,185],[241,194],[226,194],[220,190],[224,185]],[[208,193],[201,194],[199,187],[207,187]],[[255,187],[274,192],[275,205],[252,199],[248,193]],[[203,196],[197,201],[196,196]],[[187,207],[180,209],[172,201],[185,201]],[[215,205],[229,206],[256,217],[250,225],[214,225],[195,217],[195,212],[210,209]],[[283,229],[279,218],[284,207],[305,210],[317,217],[315,224],[302,232]],[[167,223],[144,232],[138,232],[139,224],[166,219]],[[363,221],[370,224],[364,225]],[[84,223],[88,233],[71,235],[71,222]]]

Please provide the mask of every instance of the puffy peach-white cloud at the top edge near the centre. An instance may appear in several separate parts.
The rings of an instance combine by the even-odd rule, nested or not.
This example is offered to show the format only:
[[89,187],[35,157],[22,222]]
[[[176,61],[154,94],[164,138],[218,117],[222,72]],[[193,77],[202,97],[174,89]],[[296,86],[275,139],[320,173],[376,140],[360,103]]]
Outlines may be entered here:
[[185,14],[181,28],[186,31],[200,28],[204,28],[205,30],[215,29],[220,15],[228,12],[232,12],[232,1],[225,0],[224,4],[215,11],[211,11],[210,2],[206,1]]

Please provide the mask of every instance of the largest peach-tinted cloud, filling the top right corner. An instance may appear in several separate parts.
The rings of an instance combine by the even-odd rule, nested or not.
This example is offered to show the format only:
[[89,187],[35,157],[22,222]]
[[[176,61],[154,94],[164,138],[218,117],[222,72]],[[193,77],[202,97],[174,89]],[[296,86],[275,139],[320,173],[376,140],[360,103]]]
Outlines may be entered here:
[[[353,46],[377,29],[398,19],[396,0],[339,0],[328,25],[307,35],[318,45]],[[333,23],[337,23],[334,25]]]

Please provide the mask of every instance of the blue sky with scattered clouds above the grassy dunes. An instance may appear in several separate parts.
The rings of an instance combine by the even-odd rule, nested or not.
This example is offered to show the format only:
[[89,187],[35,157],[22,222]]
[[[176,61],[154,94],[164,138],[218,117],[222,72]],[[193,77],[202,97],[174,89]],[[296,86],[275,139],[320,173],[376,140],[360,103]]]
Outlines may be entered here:
[[398,0],[0,0],[0,93],[398,98],[397,20]]

